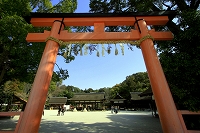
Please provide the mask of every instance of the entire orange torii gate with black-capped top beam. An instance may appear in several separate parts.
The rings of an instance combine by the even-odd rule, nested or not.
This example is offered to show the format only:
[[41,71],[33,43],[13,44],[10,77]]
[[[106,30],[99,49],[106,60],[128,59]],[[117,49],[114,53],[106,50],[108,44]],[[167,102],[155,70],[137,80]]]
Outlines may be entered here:
[[[78,41],[136,41],[141,40],[140,48],[148,71],[152,91],[155,97],[162,129],[165,133],[186,133],[187,129],[179,117],[165,75],[157,57],[154,40],[172,40],[171,32],[156,32],[148,30],[147,25],[165,25],[173,11],[123,14],[48,14],[32,13],[30,22],[33,26],[51,26],[51,31],[44,33],[29,33],[28,42],[45,42],[47,44],[33,83],[33,87],[25,108],[20,117],[15,132],[36,133],[42,117],[47,92],[53,73],[59,44]],[[69,33],[64,26],[94,26],[94,32]],[[130,32],[105,32],[105,26],[135,26]],[[152,37],[152,38],[151,38]],[[61,40],[61,41],[60,41]]]

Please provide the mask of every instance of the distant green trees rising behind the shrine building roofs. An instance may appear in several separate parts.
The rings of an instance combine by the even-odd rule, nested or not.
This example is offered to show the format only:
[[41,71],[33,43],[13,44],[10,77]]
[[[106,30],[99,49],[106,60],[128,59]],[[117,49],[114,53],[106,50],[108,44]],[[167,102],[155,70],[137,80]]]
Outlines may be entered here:
[[67,97],[71,98],[74,93],[95,93],[104,92],[106,102],[110,102],[110,99],[115,98],[117,94],[123,98],[130,100],[130,92],[143,92],[150,88],[150,82],[147,72],[138,72],[126,77],[124,81],[118,83],[112,87],[104,87],[94,90],[92,88],[80,89],[74,86],[59,85],[55,82],[51,82],[49,89],[49,97]]

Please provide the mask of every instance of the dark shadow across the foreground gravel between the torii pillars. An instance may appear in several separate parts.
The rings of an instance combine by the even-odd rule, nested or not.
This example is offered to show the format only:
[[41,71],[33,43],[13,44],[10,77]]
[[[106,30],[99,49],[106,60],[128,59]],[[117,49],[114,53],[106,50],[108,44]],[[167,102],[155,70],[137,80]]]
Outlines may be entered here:
[[159,119],[150,115],[113,114],[107,118],[112,122],[43,121],[39,133],[162,133]]

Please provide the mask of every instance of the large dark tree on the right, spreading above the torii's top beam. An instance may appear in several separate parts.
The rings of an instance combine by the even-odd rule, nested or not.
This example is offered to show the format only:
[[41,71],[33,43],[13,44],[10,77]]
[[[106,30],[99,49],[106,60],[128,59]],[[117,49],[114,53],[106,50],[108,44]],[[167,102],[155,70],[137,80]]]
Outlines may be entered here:
[[[156,41],[159,58],[179,109],[200,110],[199,4],[190,0],[91,0],[90,12],[147,12],[176,10],[176,21],[156,30],[169,29],[173,41]],[[123,31],[123,29],[120,29]]]

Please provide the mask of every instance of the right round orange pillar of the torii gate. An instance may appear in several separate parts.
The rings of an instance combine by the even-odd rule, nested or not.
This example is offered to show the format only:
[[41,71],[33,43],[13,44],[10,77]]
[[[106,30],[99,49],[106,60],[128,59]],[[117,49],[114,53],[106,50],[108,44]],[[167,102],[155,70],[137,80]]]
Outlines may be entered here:
[[[138,26],[141,31],[140,38],[149,34],[144,20],[138,21]],[[140,44],[140,48],[148,71],[163,132],[186,133],[187,131],[184,131],[181,121],[179,120],[178,112],[154,48],[153,41],[151,39],[143,41]]]

